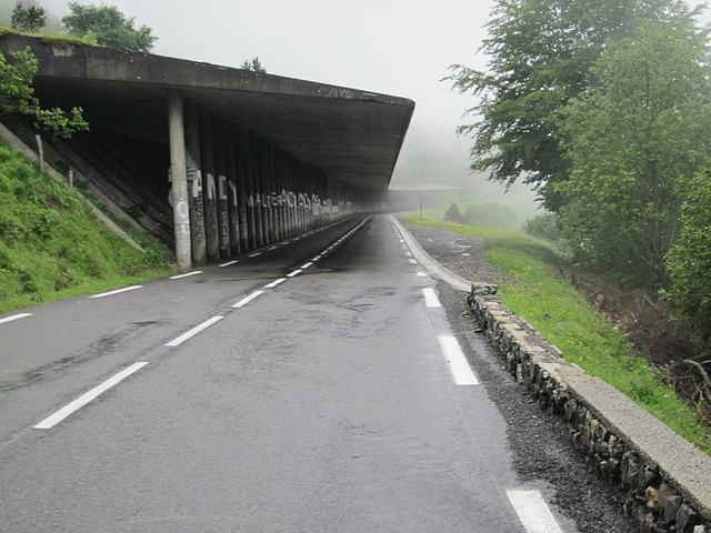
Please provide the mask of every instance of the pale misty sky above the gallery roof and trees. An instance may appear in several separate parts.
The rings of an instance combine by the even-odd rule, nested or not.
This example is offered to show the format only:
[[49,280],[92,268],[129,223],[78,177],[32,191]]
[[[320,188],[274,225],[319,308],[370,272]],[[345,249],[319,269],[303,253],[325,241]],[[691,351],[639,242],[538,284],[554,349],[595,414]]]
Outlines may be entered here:
[[[0,4],[14,3],[0,0]],[[60,18],[69,13],[67,0],[37,3]],[[269,73],[412,99],[414,118],[394,181],[412,179],[418,170],[429,174],[428,169],[462,179],[469,174],[471,140],[458,139],[454,130],[464,109],[474,102],[452,92],[450,82],[440,79],[452,63],[485,67],[485,58],[477,50],[485,36],[492,0],[79,3],[117,6],[134,17],[137,27],[146,24],[159,38],[153,52],[161,56],[228,67],[259,57]],[[440,181],[437,175],[414,178]]]

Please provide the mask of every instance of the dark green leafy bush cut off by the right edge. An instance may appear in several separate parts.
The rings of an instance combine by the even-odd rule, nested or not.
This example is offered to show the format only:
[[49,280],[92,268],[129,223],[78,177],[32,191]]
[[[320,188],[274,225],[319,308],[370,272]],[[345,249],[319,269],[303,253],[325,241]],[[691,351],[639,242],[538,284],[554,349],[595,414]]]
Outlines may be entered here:
[[668,296],[691,319],[705,341],[711,339],[711,170],[682,181],[685,197],[679,240],[667,255]]

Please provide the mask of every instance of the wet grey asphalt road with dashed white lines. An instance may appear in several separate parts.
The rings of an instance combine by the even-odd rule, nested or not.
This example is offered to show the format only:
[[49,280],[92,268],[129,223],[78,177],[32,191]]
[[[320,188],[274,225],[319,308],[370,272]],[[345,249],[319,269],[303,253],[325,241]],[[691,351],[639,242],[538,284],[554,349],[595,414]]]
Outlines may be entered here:
[[585,531],[457,293],[359,222],[0,315],[0,531]]

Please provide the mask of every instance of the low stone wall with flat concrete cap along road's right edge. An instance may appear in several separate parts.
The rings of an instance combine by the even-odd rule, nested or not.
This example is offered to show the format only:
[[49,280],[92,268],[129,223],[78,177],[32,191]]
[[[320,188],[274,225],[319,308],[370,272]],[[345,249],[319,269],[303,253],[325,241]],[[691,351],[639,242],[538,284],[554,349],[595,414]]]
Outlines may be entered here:
[[[435,261],[398,225],[430,270],[428,263]],[[453,286],[462,289],[461,278]],[[589,467],[624,492],[625,512],[649,532],[711,533],[711,457],[617,389],[564,361],[501,303],[495,285],[470,286],[469,306],[508,371],[543,410],[565,421]]]

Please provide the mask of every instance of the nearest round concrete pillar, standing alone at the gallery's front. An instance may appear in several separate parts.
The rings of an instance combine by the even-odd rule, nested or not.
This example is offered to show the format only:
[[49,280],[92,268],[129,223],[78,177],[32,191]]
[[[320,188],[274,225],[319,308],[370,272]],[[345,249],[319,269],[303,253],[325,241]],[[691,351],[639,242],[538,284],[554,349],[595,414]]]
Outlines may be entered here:
[[186,133],[182,97],[168,98],[168,132],[170,138],[170,175],[173,190],[173,228],[176,233],[176,261],[188,270],[192,266],[190,247],[190,210],[188,208],[188,171],[186,167]]

